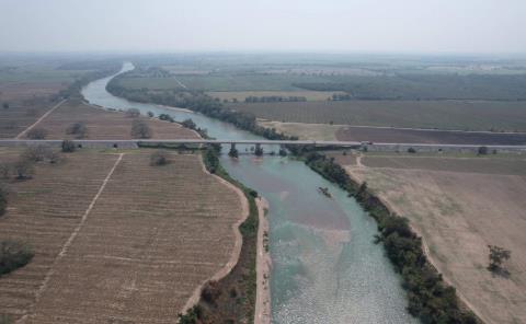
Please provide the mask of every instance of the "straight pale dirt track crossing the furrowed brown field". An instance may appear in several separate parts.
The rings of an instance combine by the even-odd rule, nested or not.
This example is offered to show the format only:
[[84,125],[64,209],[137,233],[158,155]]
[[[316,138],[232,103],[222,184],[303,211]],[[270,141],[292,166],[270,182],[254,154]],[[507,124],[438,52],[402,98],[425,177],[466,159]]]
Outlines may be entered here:
[[27,311],[26,314],[24,314],[20,320],[16,321],[16,323],[25,323],[25,320],[27,320],[27,317],[30,316],[30,314],[34,311],[34,306],[36,305],[36,303],[38,302],[38,300],[41,299],[42,297],[42,293],[46,290],[47,288],[47,285],[49,282],[49,280],[52,279],[53,275],[55,274],[55,266],[58,264],[58,262],[60,262],[60,259],[62,259],[62,257],[66,255],[66,253],[68,252],[68,248],[69,246],[71,245],[71,243],[73,242],[75,238],[77,238],[77,235],[79,234],[80,230],[82,229],[83,224],[85,223],[85,220],[88,219],[88,216],[90,215],[91,210],[93,209],[93,207],[95,206],[96,204],[96,200],[99,199],[99,197],[101,196],[102,192],[104,190],[104,188],[106,187],[106,184],[110,182],[110,178],[112,177],[115,169],[117,167],[117,165],[121,163],[121,161],[123,160],[123,157],[124,157],[124,153],[119,153],[118,154],[118,158],[117,160],[115,161],[115,163],[113,164],[112,169],[110,170],[110,172],[107,173],[106,177],[104,178],[104,181],[102,182],[101,186],[99,187],[99,190],[96,192],[95,196],[93,197],[93,199],[91,200],[91,204],[88,206],[88,208],[85,209],[84,213],[82,215],[82,218],[80,220],[80,222],[77,224],[77,227],[75,228],[73,232],[71,232],[71,235],[69,235],[68,240],[66,241],[66,243],[64,243],[62,245],[62,248],[60,250],[60,252],[58,253],[58,255],[55,257],[55,259],[53,261],[53,264],[52,264],[52,267],[49,268],[49,270],[47,271],[46,276],[44,277],[44,280],[42,281],[42,285],[38,287],[38,290],[36,291],[36,294],[35,294],[35,301],[32,303],[32,305],[30,306],[30,310]]

